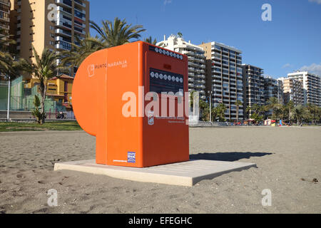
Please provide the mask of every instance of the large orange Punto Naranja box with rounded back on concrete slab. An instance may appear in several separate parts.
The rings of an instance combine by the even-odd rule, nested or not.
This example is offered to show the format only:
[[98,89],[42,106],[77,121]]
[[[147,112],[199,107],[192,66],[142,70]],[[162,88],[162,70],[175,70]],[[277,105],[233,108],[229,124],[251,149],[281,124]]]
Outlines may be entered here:
[[189,160],[188,114],[178,118],[174,96],[163,106],[169,115],[169,100],[175,99],[174,118],[161,115],[162,105],[159,115],[156,106],[147,112],[157,101],[144,99],[148,92],[158,93],[160,103],[161,92],[187,93],[188,57],[138,41],[97,51],[78,68],[73,110],[81,128],[96,136],[97,164],[151,167]]

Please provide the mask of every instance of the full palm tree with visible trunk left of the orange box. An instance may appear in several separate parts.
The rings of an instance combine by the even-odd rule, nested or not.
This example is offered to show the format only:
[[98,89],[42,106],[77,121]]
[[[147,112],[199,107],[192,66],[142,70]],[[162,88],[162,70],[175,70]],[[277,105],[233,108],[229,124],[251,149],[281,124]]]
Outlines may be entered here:
[[19,61],[19,68],[21,71],[30,73],[35,78],[39,79],[40,85],[40,95],[41,95],[41,124],[45,122],[45,100],[47,93],[47,84],[48,80],[54,78],[58,67],[56,61],[59,58],[59,54],[50,51],[45,48],[41,53],[41,56],[38,55],[34,46],[32,46],[34,52],[35,63],[30,63],[26,59],[22,58]]

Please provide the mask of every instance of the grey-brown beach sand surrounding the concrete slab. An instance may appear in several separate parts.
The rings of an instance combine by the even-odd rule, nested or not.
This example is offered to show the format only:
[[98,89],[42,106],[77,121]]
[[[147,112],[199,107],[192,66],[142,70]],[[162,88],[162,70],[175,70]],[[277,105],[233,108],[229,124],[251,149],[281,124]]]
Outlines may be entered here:
[[[258,168],[178,187],[54,172],[55,162],[95,157],[84,132],[0,133],[0,213],[320,213],[320,138],[321,128],[191,128],[191,158]],[[58,207],[47,204],[51,189]]]

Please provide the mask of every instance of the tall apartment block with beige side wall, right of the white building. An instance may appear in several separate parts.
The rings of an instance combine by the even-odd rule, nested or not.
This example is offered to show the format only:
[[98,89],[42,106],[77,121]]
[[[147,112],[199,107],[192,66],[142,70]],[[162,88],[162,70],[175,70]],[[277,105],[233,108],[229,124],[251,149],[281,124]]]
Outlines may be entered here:
[[[206,86],[211,92],[214,106],[224,103],[227,107],[226,120],[236,120],[237,100],[243,100],[242,51],[223,43],[211,42],[200,45],[208,61],[206,69]],[[243,105],[239,107],[239,120],[244,118]]]

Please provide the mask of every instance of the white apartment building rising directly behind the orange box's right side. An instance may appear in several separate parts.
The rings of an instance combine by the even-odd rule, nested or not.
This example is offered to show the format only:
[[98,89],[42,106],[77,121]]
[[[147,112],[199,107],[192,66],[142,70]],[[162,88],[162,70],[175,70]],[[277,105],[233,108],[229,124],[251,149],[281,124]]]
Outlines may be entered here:
[[189,92],[198,91],[200,99],[205,100],[205,55],[203,48],[175,35],[171,35],[167,40],[164,37],[164,41],[157,43],[157,45],[188,56],[188,90]]

